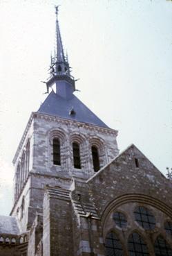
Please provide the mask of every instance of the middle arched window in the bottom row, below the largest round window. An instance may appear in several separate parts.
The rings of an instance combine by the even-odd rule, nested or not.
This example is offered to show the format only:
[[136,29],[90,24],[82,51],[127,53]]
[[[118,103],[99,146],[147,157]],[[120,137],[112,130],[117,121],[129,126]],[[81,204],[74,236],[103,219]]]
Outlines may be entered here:
[[128,238],[128,252],[130,256],[146,256],[149,255],[146,243],[137,232],[134,232]]

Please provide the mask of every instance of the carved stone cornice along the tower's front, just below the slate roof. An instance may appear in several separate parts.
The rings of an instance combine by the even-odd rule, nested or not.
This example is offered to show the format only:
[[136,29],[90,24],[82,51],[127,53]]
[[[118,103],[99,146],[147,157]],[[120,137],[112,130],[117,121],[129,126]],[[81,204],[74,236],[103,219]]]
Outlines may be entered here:
[[75,120],[70,120],[70,119],[63,119],[61,117],[56,117],[53,115],[48,115],[48,114],[42,114],[39,112],[33,112],[34,117],[39,117],[40,119],[44,119],[46,121],[60,121],[61,123],[64,123],[66,125],[71,125],[74,127],[83,127],[86,128],[88,130],[96,130],[99,133],[104,133],[104,134],[110,134],[110,135],[116,135],[118,131],[117,130],[113,130],[111,128],[104,128],[104,127],[100,127],[100,126],[95,126],[93,124],[90,123],[82,123],[79,121],[75,121]]

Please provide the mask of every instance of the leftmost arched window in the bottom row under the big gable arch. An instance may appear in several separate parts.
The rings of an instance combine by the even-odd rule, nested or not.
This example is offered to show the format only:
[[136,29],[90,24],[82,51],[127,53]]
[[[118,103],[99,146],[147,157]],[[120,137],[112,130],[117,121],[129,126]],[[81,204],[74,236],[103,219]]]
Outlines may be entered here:
[[120,243],[120,240],[117,238],[117,236],[110,232],[106,236],[105,241],[105,247],[106,247],[106,256],[123,256],[123,250],[122,250],[122,244]]

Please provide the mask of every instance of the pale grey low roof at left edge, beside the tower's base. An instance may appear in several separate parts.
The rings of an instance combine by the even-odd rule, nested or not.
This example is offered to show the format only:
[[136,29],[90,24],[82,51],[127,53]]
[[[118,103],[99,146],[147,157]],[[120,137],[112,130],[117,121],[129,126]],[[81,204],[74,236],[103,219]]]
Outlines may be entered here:
[[19,234],[17,219],[13,216],[0,216],[0,234]]

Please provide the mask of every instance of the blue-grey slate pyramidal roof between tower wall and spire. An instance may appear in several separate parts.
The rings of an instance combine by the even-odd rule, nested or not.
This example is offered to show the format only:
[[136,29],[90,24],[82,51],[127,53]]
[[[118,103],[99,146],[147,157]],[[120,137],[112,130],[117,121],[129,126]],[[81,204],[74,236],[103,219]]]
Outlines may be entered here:
[[[72,108],[75,114],[69,114]],[[64,99],[52,91],[37,112],[108,128],[108,126],[90,111],[82,101],[79,101],[74,94],[71,99]]]

